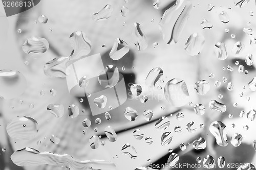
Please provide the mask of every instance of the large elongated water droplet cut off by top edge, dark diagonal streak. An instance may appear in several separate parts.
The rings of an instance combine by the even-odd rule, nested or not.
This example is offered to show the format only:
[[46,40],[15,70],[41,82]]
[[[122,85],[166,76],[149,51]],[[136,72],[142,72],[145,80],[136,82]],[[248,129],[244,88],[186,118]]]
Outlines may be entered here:
[[190,1],[178,0],[163,13],[159,22],[159,30],[167,44],[175,44],[179,41],[191,8]]

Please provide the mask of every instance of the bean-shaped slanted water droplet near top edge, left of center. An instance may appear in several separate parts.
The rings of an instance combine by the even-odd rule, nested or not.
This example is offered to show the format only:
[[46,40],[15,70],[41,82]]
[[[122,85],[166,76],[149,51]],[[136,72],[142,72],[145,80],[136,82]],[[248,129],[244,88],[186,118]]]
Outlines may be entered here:
[[111,5],[105,5],[99,12],[93,14],[92,19],[95,21],[106,20],[111,17],[113,10]]

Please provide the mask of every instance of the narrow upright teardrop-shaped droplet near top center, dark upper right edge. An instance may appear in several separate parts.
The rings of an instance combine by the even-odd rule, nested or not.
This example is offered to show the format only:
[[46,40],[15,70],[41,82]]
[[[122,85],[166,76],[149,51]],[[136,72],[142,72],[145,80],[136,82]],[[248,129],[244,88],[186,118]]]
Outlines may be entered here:
[[147,40],[144,31],[141,29],[140,24],[135,22],[133,24],[133,35],[135,39],[135,45],[137,46],[138,51],[143,51],[147,47]]

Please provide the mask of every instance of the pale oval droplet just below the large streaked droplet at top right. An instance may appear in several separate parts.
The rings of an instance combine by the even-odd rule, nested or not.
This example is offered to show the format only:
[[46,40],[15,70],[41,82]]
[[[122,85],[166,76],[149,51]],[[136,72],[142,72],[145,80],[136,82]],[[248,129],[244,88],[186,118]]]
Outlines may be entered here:
[[185,51],[190,56],[196,56],[203,50],[205,38],[200,33],[194,33],[189,36],[185,43]]

